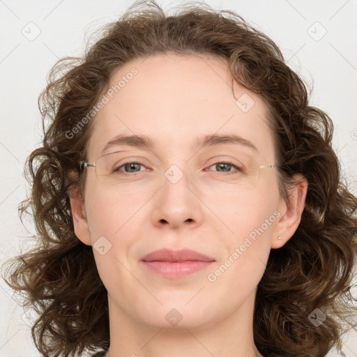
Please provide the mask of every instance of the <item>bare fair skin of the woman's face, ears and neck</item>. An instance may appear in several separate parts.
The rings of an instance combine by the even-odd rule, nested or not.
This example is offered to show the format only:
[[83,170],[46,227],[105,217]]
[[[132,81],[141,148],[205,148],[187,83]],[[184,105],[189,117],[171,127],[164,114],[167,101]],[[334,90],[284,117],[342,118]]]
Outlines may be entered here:
[[[96,162],[116,135],[147,135],[155,140],[154,149],[113,146],[107,152],[126,149],[123,159],[139,160],[153,172],[142,171],[136,179],[107,187],[94,168],[87,168],[84,199],[76,190],[70,196],[77,237],[93,245],[105,236],[112,244],[104,255],[93,249],[108,292],[109,355],[261,357],[252,326],[257,284],[270,250],[284,245],[300,223],[307,182],[296,175],[303,182],[285,202],[276,169],[261,169],[255,188],[244,189],[213,165],[234,162],[236,150],[252,154],[248,148],[194,148],[202,134],[236,134],[257,146],[260,165],[274,164],[266,105],[235,83],[236,98],[248,93],[255,101],[248,112],[236,105],[225,60],[177,54],[135,59],[114,73],[111,85],[133,66],[137,75],[93,119],[87,158]],[[171,165],[183,172],[176,183],[165,176]],[[211,171],[203,170],[207,167]],[[279,218],[222,275],[209,281],[208,273],[224,264],[274,211]],[[160,248],[189,248],[215,262],[185,278],[163,278],[139,261]],[[165,319],[173,308],[182,317],[176,326]]]

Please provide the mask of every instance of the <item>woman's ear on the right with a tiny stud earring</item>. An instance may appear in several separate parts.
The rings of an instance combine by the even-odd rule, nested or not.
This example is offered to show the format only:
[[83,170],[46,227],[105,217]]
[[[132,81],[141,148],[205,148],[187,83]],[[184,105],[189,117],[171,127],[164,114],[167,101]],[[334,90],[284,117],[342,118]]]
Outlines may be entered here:
[[[296,174],[294,179],[296,179],[298,183],[289,191],[287,201],[282,198],[279,204],[279,212],[281,215],[278,224],[275,226],[274,234],[271,237],[271,248],[273,249],[281,248],[287,243],[301,222],[301,215],[305,208],[308,183],[301,174]],[[281,237],[281,239],[278,237]]]

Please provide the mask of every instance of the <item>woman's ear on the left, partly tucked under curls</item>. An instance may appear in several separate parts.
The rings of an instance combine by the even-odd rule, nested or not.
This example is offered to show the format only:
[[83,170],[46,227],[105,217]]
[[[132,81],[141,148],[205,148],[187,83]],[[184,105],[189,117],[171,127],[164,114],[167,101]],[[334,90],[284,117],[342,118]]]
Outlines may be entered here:
[[79,195],[79,188],[70,187],[70,210],[73,217],[73,225],[75,227],[75,235],[86,245],[91,245],[91,237],[89,235],[88,221],[86,219],[86,210],[84,206],[84,198]]

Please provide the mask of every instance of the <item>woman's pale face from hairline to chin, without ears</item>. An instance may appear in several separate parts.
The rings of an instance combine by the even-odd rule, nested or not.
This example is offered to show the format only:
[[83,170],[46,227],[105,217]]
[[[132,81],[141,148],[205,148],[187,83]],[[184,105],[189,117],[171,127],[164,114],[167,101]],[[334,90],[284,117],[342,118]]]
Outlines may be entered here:
[[[128,75],[132,68],[137,72]],[[174,318],[198,328],[239,314],[252,305],[281,234],[276,169],[252,169],[275,164],[266,105],[234,84],[237,102],[227,63],[208,56],[136,59],[116,71],[110,86],[123,77],[93,119],[87,150],[88,162],[101,161],[102,169],[121,151],[118,171],[100,176],[98,167],[87,167],[86,233],[76,231],[93,245],[109,306],[156,327]],[[119,135],[145,135],[153,146],[131,146],[115,140]],[[197,146],[206,135],[236,135],[245,144]],[[104,165],[98,158],[107,153]],[[236,169],[242,163],[252,171]],[[164,254],[143,261],[162,249],[208,259]]]

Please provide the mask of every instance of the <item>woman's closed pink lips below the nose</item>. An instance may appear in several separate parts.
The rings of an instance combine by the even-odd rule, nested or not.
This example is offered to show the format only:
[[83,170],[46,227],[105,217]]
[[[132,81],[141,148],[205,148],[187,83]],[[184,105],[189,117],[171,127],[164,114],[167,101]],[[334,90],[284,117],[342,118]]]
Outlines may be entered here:
[[185,248],[155,250],[142,257],[141,261],[151,272],[165,278],[183,278],[208,268],[215,259]]

